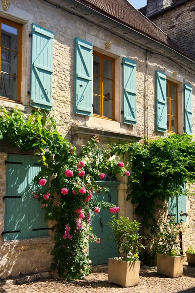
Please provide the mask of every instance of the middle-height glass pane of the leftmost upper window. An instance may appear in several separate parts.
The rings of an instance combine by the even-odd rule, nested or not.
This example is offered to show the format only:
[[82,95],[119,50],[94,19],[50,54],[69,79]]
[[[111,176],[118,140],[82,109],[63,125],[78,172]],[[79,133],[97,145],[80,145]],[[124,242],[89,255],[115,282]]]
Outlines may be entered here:
[[18,75],[18,53],[6,49],[1,49],[0,70]]

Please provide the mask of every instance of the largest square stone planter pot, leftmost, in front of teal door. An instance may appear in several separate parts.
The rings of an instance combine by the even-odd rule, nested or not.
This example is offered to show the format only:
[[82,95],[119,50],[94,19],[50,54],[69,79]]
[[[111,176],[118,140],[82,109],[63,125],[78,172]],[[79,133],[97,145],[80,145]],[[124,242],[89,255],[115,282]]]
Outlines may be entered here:
[[137,286],[139,282],[140,261],[122,261],[117,258],[108,259],[108,283],[122,287]]

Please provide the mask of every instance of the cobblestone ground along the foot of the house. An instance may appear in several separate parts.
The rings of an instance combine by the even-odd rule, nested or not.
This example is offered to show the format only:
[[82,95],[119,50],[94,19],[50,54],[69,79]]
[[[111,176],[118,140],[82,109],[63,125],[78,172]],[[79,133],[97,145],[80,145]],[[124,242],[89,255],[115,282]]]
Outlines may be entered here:
[[155,270],[141,269],[136,287],[108,284],[107,272],[95,272],[81,281],[41,280],[22,285],[3,285],[0,293],[195,293],[195,268],[184,265],[182,277],[171,279]]

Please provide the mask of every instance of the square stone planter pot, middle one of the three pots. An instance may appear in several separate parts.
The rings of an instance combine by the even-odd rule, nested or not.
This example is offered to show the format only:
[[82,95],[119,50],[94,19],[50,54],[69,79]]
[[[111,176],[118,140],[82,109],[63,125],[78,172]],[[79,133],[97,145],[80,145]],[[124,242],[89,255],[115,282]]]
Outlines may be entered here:
[[157,273],[171,278],[183,275],[183,255],[170,256],[157,253]]

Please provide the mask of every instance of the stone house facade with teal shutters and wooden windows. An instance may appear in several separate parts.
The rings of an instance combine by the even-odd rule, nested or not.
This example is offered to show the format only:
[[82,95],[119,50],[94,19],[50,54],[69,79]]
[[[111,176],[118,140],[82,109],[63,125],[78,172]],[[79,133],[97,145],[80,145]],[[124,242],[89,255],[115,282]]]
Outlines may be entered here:
[[[8,6],[0,6],[1,35],[5,35],[1,63],[7,70],[1,70],[0,105],[8,110],[17,106],[26,115],[34,105],[52,108],[58,130],[78,148],[94,133],[102,144],[139,142],[144,136],[155,139],[169,132],[195,133],[195,60],[128,1],[11,0]],[[16,61],[12,68],[13,59],[18,71]],[[171,100],[175,104],[169,115]],[[31,182],[25,181],[24,167],[32,177],[40,169],[36,160],[33,152],[0,142],[2,279],[48,271],[52,262],[52,223],[39,218],[36,227],[28,222],[28,231],[25,225],[14,228],[11,223],[12,219],[15,224],[24,222],[19,215],[16,218],[17,207],[22,206],[17,201],[21,194],[23,203],[32,197],[25,191]],[[21,177],[13,177],[18,173]],[[10,182],[10,178],[18,182],[19,177],[23,185]],[[132,219],[127,182],[109,181],[119,216]],[[10,194],[18,196],[7,198]],[[185,249],[195,244],[195,202],[185,199],[184,206]],[[26,216],[22,212],[20,216]]]

